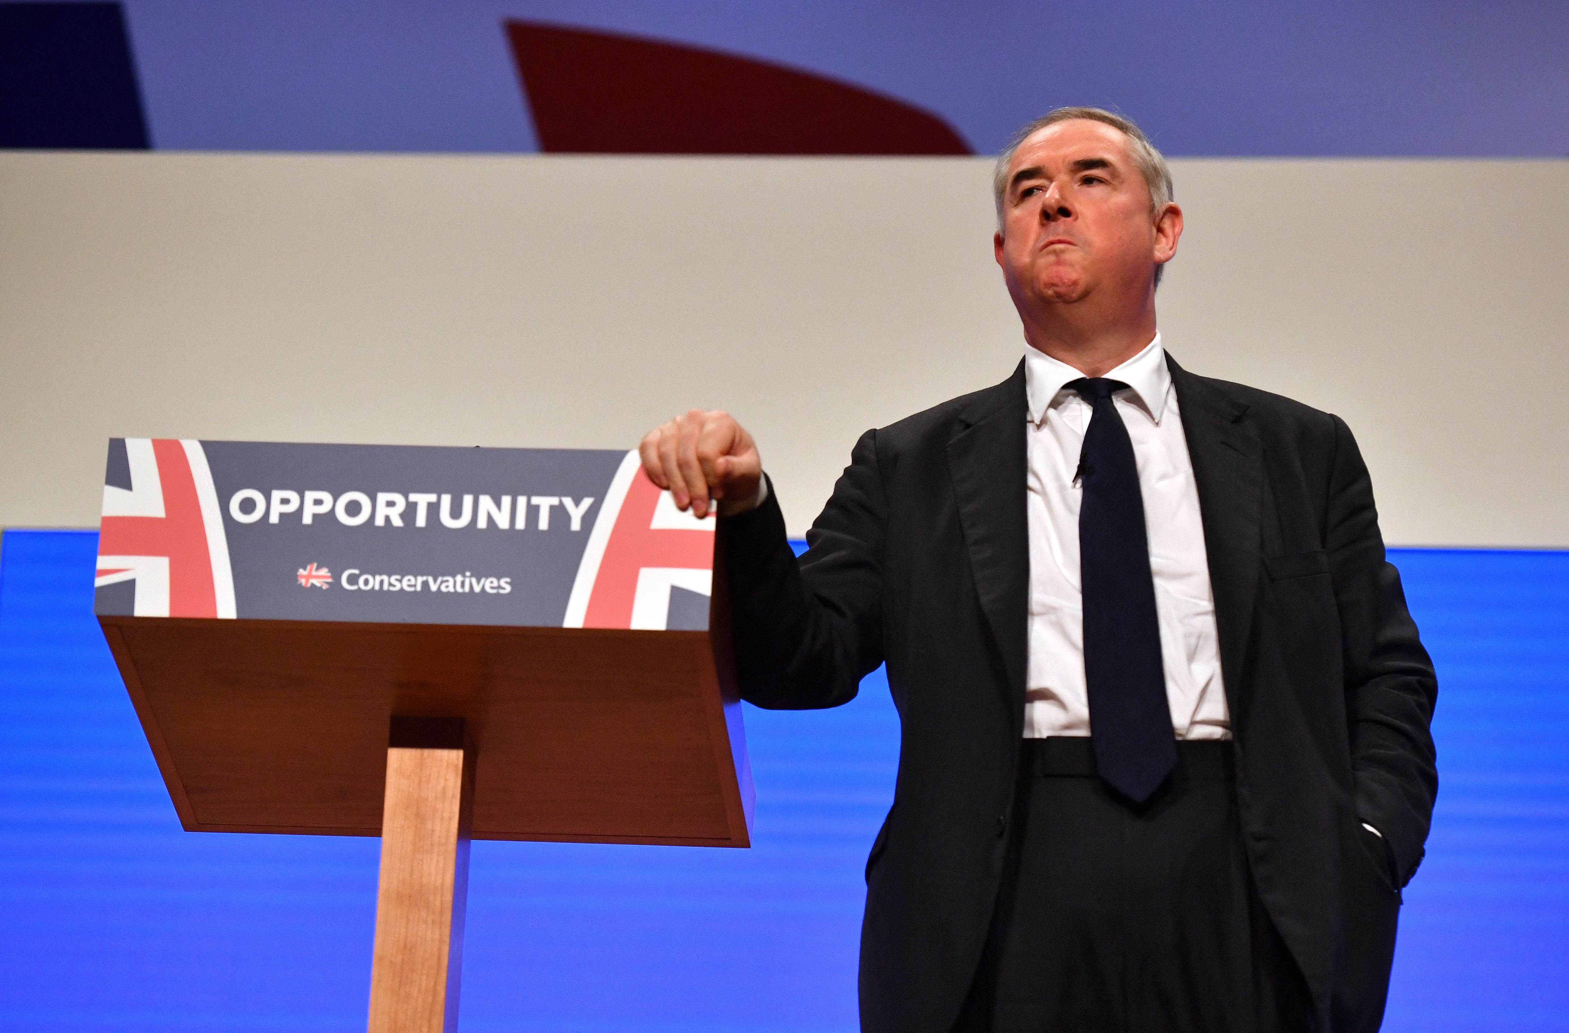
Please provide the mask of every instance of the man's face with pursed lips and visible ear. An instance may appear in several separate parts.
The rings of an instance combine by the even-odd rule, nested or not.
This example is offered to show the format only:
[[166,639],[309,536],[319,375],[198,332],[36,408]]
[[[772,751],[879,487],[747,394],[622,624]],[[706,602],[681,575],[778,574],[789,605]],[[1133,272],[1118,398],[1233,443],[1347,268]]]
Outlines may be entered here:
[[993,246],[1021,314],[1111,292],[1150,290],[1155,263],[1177,252],[1181,213],[1150,212],[1128,138],[1089,119],[1056,122],[1014,152]]

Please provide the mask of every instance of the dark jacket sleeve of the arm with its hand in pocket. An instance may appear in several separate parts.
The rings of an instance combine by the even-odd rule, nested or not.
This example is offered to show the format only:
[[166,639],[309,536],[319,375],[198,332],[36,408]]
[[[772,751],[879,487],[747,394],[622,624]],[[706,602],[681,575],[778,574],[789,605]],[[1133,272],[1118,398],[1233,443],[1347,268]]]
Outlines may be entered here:
[[1324,542],[1340,608],[1346,718],[1359,817],[1393,853],[1403,886],[1422,862],[1439,790],[1432,660],[1384,556],[1373,484],[1351,430],[1334,417]]

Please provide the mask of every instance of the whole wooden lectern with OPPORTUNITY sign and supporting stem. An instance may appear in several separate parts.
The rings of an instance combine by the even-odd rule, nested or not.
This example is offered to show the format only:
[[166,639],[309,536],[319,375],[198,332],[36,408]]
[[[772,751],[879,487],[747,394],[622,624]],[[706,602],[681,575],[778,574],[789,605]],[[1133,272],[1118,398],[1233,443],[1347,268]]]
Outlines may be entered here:
[[635,451],[115,439],[96,613],[187,829],[384,837],[439,1030],[469,837],[748,845],[714,538]]

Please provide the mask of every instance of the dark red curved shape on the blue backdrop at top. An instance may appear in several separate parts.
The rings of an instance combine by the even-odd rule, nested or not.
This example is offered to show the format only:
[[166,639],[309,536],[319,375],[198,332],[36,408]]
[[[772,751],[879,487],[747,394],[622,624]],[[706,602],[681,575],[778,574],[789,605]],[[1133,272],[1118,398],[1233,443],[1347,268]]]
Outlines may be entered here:
[[904,100],[766,61],[507,22],[540,149],[559,154],[971,154]]

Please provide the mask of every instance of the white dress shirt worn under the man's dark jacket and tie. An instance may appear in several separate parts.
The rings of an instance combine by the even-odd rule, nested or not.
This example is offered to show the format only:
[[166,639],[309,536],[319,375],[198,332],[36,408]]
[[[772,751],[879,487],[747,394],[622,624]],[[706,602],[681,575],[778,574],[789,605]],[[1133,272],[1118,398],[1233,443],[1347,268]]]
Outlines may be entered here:
[[[1064,389],[1081,376],[1073,367],[1025,348],[1029,398],[1026,738],[1090,734],[1079,594],[1081,492],[1073,473],[1092,408],[1076,392]],[[1159,334],[1106,376],[1128,384],[1128,390],[1119,390],[1112,401],[1133,439],[1139,467],[1172,729],[1177,738],[1230,738],[1199,488]]]

